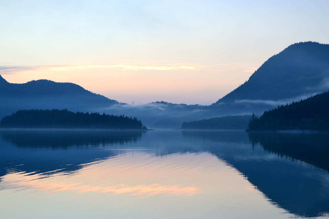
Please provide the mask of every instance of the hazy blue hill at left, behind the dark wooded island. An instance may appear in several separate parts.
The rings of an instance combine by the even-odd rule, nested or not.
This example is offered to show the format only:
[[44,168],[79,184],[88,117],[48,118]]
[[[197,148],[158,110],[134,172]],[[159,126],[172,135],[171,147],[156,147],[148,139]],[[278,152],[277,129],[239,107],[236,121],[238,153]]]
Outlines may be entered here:
[[0,103],[0,117],[3,117],[19,109],[68,109],[74,112],[96,112],[99,108],[119,102],[72,83],[38,80],[12,84],[0,75]]

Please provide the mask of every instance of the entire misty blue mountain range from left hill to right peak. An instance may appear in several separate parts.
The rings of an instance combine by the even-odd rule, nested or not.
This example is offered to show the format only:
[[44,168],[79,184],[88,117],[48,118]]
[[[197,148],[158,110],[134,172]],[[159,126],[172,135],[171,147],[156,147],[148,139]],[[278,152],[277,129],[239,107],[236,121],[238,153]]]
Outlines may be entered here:
[[[292,44],[262,64],[247,82],[210,106],[154,102],[119,104],[79,85],[48,80],[10,84],[0,76],[0,117],[19,109],[68,109],[136,116],[149,128],[180,128],[186,121],[262,114],[329,89],[329,45]],[[4,113],[5,112],[5,113]]]

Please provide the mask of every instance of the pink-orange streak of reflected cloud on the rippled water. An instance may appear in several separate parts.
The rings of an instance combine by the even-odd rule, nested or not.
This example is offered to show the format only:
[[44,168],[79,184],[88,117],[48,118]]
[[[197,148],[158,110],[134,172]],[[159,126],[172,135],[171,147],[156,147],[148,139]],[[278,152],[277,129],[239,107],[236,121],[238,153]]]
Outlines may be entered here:
[[[97,164],[93,163],[93,167],[96,167]],[[96,165],[95,165],[96,164]],[[83,174],[88,174],[88,170],[82,170]],[[93,169],[96,172],[103,172],[99,168]],[[3,189],[33,189],[35,191],[44,191],[44,193],[56,193],[63,191],[75,191],[77,193],[108,193],[113,195],[126,194],[130,196],[152,196],[161,193],[167,193],[172,195],[180,196],[191,196],[197,192],[195,186],[185,186],[177,184],[99,184],[95,181],[102,180],[104,176],[98,176],[85,182],[85,179],[82,181],[72,182],[72,180],[67,180],[64,178],[59,180],[59,174],[52,172],[52,178],[49,177],[40,177],[41,174],[31,174],[25,172],[11,172],[6,175],[6,183],[2,184],[0,190]],[[89,173],[90,174],[90,173]],[[103,173],[104,174],[104,173]],[[117,176],[116,176],[117,177]],[[41,180],[47,178],[46,181]],[[22,180],[24,179],[24,180]],[[54,179],[54,180],[52,180]],[[92,183],[90,183],[92,182]]]

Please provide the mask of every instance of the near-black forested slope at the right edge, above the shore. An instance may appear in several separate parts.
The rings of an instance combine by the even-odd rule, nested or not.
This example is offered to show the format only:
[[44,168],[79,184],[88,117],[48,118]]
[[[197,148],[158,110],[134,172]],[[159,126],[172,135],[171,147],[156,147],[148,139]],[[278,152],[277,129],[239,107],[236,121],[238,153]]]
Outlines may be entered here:
[[329,130],[329,92],[252,115],[247,131]]

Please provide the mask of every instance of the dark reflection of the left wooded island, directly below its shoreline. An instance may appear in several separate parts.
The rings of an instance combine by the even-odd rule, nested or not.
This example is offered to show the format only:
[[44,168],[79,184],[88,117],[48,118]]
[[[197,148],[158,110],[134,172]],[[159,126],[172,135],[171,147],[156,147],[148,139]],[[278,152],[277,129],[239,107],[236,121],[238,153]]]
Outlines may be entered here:
[[2,139],[22,148],[66,148],[132,144],[136,143],[145,132],[139,130],[13,129],[0,130],[0,135]]

